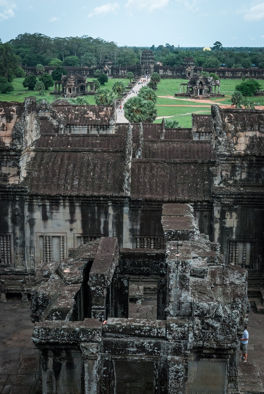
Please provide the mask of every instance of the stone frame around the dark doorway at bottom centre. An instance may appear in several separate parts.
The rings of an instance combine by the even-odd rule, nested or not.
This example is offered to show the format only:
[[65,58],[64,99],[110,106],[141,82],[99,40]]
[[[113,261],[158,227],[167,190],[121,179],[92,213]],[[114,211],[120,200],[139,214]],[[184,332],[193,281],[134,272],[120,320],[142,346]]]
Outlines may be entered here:
[[[153,379],[153,394],[159,393],[159,382],[160,382],[160,369],[161,362],[160,356],[144,356],[141,355],[133,355],[133,356],[119,356],[119,355],[109,355],[110,357],[110,371],[109,371],[109,380],[110,380],[110,394],[115,394],[115,365],[114,361],[150,361],[154,363],[154,379]],[[156,389],[157,388],[157,389]]]

